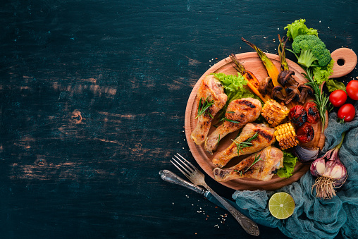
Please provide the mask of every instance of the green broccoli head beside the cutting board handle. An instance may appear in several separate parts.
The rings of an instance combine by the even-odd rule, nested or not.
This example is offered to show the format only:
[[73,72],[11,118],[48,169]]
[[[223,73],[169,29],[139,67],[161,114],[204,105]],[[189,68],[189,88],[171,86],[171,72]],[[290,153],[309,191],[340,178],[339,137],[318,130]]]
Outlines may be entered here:
[[297,36],[292,42],[292,50],[297,54],[298,63],[307,68],[327,66],[332,59],[326,44],[315,35]]

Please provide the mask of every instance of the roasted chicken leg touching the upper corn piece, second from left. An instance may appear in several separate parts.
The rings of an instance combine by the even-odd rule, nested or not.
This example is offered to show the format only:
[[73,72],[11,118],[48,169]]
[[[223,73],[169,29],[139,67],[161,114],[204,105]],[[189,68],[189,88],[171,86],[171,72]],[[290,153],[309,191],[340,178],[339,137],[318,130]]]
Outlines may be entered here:
[[239,130],[247,123],[256,121],[261,113],[262,105],[258,99],[235,99],[228,105],[226,120],[214,130],[205,141],[204,148],[210,154],[218,147],[219,138],[223,139],[228,133]]

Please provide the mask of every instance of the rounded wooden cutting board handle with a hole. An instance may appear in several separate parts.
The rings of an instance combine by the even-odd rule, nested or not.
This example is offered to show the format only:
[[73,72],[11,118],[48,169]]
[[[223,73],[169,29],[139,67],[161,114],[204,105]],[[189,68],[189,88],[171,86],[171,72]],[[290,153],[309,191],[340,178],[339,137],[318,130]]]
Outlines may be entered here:
[[331,79],[347,75],[357,66],[357,55],[352,49],[342,47],[333,51],[331,56],[334,60]]

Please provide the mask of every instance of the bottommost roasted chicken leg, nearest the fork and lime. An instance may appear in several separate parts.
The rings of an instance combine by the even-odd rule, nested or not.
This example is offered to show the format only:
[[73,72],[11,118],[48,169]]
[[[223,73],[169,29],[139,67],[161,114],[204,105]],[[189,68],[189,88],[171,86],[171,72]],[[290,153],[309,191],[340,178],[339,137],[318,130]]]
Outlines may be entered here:
[[226,182],[237,178],[256,178],[267,181],[273,172],[283,167],[283,152],[276,147],[266,147],[242,159],[239,164],[230,168],[214,168],[215,180]]

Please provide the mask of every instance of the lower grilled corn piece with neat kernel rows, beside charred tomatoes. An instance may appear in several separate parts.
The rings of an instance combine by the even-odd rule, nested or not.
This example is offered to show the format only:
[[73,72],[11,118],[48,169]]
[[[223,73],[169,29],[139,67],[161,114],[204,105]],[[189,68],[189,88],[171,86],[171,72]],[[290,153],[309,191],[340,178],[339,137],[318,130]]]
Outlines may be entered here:
[[276,126],[274,135],[281,149],[289,149],[298,144],[295,128],[291,122]]

